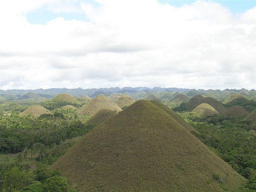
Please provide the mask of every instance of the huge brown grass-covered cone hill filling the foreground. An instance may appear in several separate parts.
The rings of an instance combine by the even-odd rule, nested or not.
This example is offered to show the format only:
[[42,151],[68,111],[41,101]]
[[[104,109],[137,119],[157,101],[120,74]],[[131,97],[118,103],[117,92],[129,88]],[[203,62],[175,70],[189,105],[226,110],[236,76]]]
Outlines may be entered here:
[[146,100],[94,128],[52,165],[56,168],[81,192],[222,192],[246,182]]

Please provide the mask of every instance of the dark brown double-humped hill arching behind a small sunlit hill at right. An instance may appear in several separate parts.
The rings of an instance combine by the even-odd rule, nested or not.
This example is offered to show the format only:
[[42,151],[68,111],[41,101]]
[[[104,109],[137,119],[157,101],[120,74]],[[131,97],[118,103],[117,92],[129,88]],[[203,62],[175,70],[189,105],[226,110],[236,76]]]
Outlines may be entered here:
[[196,108],[198,105],[202,103],[207,103],[210,106],[212,106],[215,110],[217,110],[220,114],[223,114],[227,109],[216,99],[211,97],[203,97],[201,95],[194,96],[190,99],[188,102],[188,107],[192,111],[194,108]]

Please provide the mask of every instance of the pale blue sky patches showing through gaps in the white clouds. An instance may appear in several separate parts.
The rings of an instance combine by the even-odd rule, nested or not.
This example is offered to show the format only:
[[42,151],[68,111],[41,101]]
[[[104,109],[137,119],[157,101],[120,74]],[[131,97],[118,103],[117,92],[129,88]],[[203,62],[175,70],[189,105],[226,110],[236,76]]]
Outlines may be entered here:
[[[218,2],[228,8],[234,15],[246,12],[246,10],[253,8],[256,6],[255,0],[212,0],[213,2]],[[93,6],[97,6],[97,3],[93,0],[78,0],[74,3],[75,6],[79,6],[80,3],[86,2],[90,3]],[[158,0],[160,3],[168,3],[172,6],[180,7],[184,4],[191,4],[196,2],[196,0]],[[42,7],[32,12],[29,12],[27,15],[27,20],[31,24],[46,24],[50,20],[53,20],[57,17],[63,17],[65,20],[79,20],[79,21],[86,21],[88,20],[84,13],[79,12],[72,12],[72,13],[65,13],[65,12],[52,12],[49,8]]]

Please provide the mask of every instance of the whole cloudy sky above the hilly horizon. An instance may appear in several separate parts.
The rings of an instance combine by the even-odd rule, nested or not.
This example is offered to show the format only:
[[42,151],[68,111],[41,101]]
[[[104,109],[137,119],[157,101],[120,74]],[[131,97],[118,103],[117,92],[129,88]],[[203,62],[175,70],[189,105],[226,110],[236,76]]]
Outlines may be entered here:
[[256,89],[255,0],[0,1],[0,89]]

